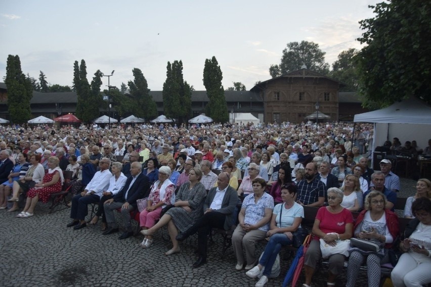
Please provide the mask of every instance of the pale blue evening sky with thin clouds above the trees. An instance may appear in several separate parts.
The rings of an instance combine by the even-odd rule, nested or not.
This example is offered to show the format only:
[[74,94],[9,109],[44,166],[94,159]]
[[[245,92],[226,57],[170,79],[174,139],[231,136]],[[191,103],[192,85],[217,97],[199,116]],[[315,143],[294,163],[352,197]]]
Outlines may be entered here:
[[[373,17],[371,0],[309,1],[31,1],[0,0],[0,81],[8,55],[24,74],[44,72],[50,84],[72,85],[73,63],[85,60],[89,82],[99,69],[110,85],[143,72],[162,90],[167,62],[183,61],[184,79],[204,90],[205,59],[217,58],[223,86],[247,90],[271,78],[288,42],[314,41],[332,63],[361,49],[359,21]],[[108,85],[103,78],[102,89]]]

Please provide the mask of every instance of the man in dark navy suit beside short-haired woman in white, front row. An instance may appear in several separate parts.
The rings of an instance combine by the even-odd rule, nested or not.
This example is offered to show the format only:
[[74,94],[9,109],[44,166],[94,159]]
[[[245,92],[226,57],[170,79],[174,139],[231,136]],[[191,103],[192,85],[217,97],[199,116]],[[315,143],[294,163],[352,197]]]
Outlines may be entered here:
[[121,217],[125,231],[118,237],[125,239],[133,235],[130,223],[130,212],[138,208],[136,201],[148,197],[150,193],[150,181],[148,176],[142,172],[142,165],[139,162],[132,163],[130,167],[131,176],[127,178],[124,187],[112,199],[105,202],[105,216],[108,229],[104,235],[118,232],[118,225],[115,223],[114,210],[121,208]]

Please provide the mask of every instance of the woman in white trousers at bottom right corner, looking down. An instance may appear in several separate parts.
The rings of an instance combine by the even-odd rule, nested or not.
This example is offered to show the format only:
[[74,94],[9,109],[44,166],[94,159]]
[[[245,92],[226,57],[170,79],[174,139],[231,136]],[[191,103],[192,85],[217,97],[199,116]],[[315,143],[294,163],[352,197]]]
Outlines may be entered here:
[[404,252],[391,273],[395,287],[425,286],[431,283],[431,201],[425,197],[412,204],[412,219],[404,232]]

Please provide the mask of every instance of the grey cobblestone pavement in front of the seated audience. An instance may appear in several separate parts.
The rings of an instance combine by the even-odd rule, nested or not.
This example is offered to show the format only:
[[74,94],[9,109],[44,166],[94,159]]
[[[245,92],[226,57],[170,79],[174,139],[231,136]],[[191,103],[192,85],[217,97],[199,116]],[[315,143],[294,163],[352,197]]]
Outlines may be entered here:
[[[414,193],[414,185],[413,180],[403,180],[408,194]],[[118,240],[120,233],[102,235],[100,223],[80,230],[67,228],[70,209],[47,214],[48,205],[39,203],[32,217],[16,218],[17,213],[0,210],[1,286],[254,286],[256,282],[244,270],[235,270],[232,247],[220,258],[220,235],[213,236],[208,263],[192,268],[196,235],[180,244],[180,254],[166,257],[163,253],[171,248],[161,236],[163,232],[167,238],[166,229],[159,230],[154,245],[145,250],[139,245],[141,235]],[[258,245],[256,253],[263,248]],[[286,255],[282,254],[280,276],[266,286],[281,286],[291,261]],[[323,286],[325,277],[325,271],[318,271],[313,286]],[[366,274],[361,277],[364,280]],[[366,282],[359,280],[357,285]]]

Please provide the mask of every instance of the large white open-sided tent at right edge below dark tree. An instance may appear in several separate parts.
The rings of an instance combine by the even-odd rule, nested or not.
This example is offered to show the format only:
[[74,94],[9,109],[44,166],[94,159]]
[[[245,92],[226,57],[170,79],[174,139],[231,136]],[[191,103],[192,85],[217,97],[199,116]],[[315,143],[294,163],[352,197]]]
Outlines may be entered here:
[[374,123],[373,151],[394,137],[403,145],[406,140],[416,140],[417,145],[424,148],[431,137],[431,107],[414,97],[381,110],[355,115],[354,122]]

